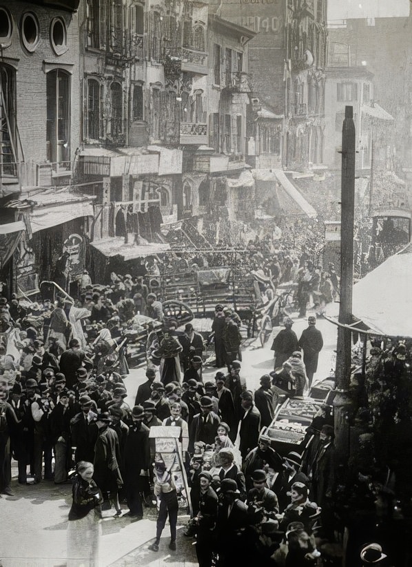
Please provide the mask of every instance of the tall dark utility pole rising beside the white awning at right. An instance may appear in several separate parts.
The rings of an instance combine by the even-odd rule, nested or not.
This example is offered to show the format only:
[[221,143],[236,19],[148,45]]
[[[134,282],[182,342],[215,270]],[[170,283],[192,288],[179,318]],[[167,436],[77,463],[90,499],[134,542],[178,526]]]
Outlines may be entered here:
[[[355,209],[356,132],[353,107],[345,107],[342,128],[342,211],[340,217],[340,306],[339,323],[352,323],[353,217]],[[335,435],[336,461],[347,470],[349,459],[349,383],[351,377],[351,330],[338,326],[336,355]],[[336,471],[338,472],[338,471]],[[339,473],[338,473],[339,474]]]

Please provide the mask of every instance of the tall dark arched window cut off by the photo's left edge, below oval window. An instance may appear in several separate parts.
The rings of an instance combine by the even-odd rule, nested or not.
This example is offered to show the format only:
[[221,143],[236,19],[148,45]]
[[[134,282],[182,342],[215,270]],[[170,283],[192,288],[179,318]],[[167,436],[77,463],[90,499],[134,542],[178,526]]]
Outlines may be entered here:
[[16,71],[0,63],[0,177],[17,175]]

